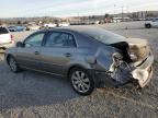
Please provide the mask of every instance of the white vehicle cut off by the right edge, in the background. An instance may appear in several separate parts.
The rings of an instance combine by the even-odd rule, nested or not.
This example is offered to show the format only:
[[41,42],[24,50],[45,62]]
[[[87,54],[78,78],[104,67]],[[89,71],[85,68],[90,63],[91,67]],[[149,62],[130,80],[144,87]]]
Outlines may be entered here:
[[158,27],[158,17],[157,19],[153,19],[150,21],[147,21],[145,23],[145,27],[146,28]]

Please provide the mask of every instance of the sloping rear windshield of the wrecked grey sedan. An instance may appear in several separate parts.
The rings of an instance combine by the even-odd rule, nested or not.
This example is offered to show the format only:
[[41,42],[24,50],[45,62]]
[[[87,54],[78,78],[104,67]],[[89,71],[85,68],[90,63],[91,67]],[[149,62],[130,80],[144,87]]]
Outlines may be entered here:
[[89,28],[82,33],[104,44],[113,44],[125,40],[125,37],[102,28]]

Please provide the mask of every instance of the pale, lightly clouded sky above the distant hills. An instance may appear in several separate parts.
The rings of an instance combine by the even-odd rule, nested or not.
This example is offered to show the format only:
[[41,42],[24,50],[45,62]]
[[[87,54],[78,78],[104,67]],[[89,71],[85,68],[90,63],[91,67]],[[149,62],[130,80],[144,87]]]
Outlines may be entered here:
[[0,17],[82,16],[158,11],[158,0],[1,0]]

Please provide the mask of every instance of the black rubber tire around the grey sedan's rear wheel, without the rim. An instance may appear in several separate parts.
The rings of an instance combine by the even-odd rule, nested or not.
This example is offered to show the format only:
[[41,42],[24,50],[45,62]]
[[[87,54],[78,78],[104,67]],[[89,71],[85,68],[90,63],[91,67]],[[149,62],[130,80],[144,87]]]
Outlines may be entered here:
[[[76,71],[82,71],[82,72],[84,72],[84,73],[88,75],[88,78],[89,78],[89,80],[90,80],[90,88],[88,90],[88,92],[81,93],[81,92],[77,91],[77,90],[74,87],[72,81],[71,81],[71,76],[72,76],[74,72],[76,72]],[[78,94],[80,94],[80,95],[82,95],[82,96],[90,95],[90,94],[93,92],[93,90],[94,90],[94,81],[93,81],[93,79],[92,79],[92,75],[90,75],[90,73],[89,73],[88,70],[86,70],[86,69],[82,69],[82,68],[75,68],[75,69],[72,69],[72,70],[70,71],[70,73],[69,73],[69,80],[70,80],[71,87],[75,90],[75,92],[78,93]]]

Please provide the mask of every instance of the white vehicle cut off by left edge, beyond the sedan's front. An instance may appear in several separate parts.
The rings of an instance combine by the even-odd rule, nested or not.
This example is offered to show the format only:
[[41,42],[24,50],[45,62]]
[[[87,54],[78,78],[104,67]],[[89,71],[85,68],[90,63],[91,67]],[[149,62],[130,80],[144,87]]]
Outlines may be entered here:
[[14,46],[13,36],[4,26],[0,26],[0,49],[7,49]]

